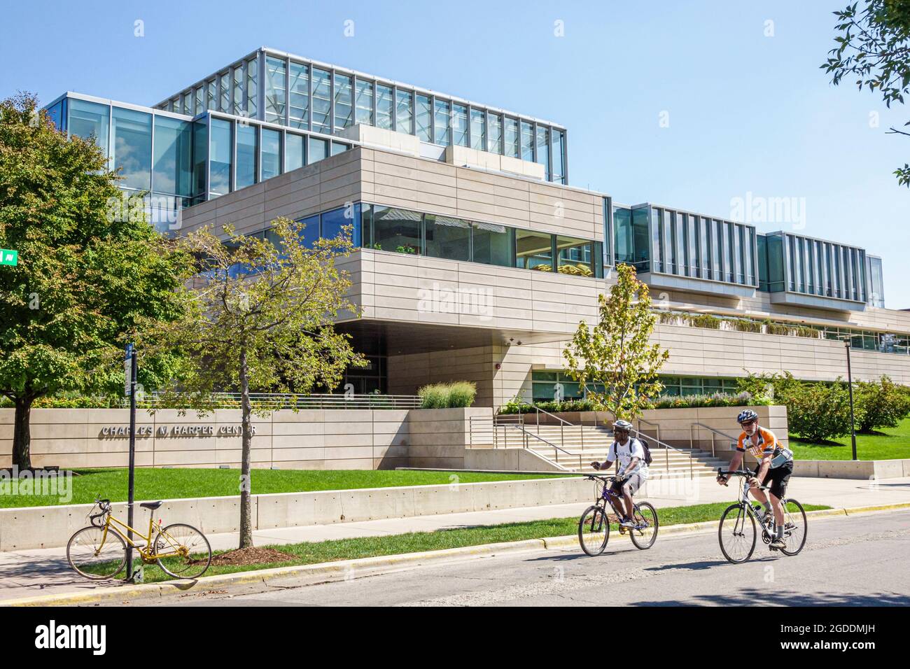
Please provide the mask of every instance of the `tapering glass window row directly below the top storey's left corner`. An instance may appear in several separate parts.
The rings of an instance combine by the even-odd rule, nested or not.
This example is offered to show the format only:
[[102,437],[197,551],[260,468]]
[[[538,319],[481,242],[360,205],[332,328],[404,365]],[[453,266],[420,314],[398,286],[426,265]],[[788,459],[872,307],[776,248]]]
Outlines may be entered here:
[[208,197],[216,198],[309,165],[350,145],[312,135],[209,117]]

